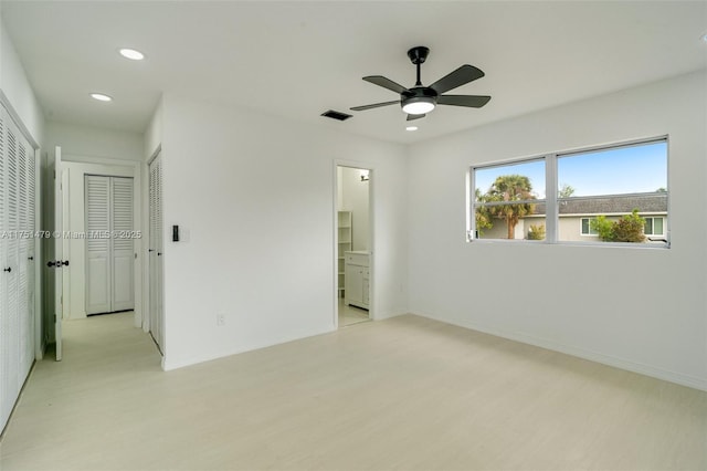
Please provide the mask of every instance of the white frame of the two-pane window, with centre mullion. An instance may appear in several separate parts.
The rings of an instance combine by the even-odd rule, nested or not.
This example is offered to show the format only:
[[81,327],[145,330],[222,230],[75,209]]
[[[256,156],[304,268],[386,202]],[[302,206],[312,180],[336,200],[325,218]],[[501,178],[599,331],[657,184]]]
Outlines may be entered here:
[[[634,147],[634,146],[644,146],[656,143],[665,143],[666,145],[666,198],[667,198],[667,211],[665,216],[646,216],[645,218],[662,218],[663,219],[663,233],[662,234],[646,234],[646,237],[663,237],[663,243],[635,243],[635,242],[604,242],[600,240],[585,240],[585,241],[568,241],[568,240],[559,240],[558,231],[559,231],[559,184],[558,184],[558,159],[562,157],[569,157],[572,155],[579,154],[590,154],[602,150],[612,150],[624,147]],[[516,159],[508,159],[503,161],[494,161],[486,164],[475,164],[468,167],[466,174],[466,242],[474,243],[545,243],[545,244],[561,244],[561,245],[599,245],[599,247],[625,247],[625,248],[646,248],[646,249],[669,249],[671,248],[671,190],[669,190],[669,163],[671,163],[671,145],[669,145],[669,136],[662,135],[655,137],[645,137],[632,140],[624,140],[619,143],[603,144],[598,146],[589,146],[582,148],[567,149],[561,151],[553,151],[547,154],[540,154],[535,156],[521,157]],[[478,237],[478,230],[476,229],[476,209],[479,207],[476,201],[476,181],[475,175],[476,170],[487,169],[493,167],[507,167],[514,166],[518,164],[529,163],[529,161],[545,161],[545,200],[532,200],[531,202],[544,202],[546,206],[546,237],[544,240],[527,240],[527,239],[483,239]],[[632,193],[621,193],[621,195],[632,195]],[[602,195],[597,195],[594,197],[602,197]],[[515,202],[524,202],[524,201],[515,201]],[[510,203],[508,203],[510,205]],[[489,203],[485,203],[483,206],[490,206]],[[592,219],[592,218],[580,218],[580,236],[582,238],[592,238],[595,234],[582,233],[582,219]],[[591,231],[591,230],[590,230]]]

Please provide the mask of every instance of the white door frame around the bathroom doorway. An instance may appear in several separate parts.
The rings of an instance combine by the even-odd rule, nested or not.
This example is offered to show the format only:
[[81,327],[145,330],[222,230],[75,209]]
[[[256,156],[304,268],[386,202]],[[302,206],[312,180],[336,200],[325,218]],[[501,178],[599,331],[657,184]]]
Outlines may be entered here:
[[339,178],[337,169],[339,167],[348,167],[360,170],[368,170],[369,181],[368,181],[368,251],[370,252],[369,257],[369,307],[368,307],[368,317],[371,321],[376,321],[376,312],[377,312],[377,293],[376,289],[376,165],[365,160],[346,160],[346,159],[334,159],[333,166],[333,180],[334,180],[334,195],[333,195],[333,224],[331,231],[334,234],[334,247],[331,252],[331,295],[334,296],[334,328],[339,328],[339,300],[338,300],[338,290],[337,284],[339,282],[339,266],[338,266],[338,250],[339,250],[339,230],[338,230],[338,220],[339,220]]

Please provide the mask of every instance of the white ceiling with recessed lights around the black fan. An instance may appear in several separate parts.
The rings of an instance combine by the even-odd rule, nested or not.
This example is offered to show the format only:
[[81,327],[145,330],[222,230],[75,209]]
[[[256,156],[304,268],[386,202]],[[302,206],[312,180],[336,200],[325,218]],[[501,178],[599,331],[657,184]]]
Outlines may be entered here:
[[[707,1],[3,0],[1,12],[49,119],[136,132],[171,92],[412,143],[707,69]],[[441,106],[415,133],[399,106],[319,116],[395,100],[361,77],[412,86],[414,45],[431,49],[424,84],[468,63],[486,76],[453,93],[489,104]]]

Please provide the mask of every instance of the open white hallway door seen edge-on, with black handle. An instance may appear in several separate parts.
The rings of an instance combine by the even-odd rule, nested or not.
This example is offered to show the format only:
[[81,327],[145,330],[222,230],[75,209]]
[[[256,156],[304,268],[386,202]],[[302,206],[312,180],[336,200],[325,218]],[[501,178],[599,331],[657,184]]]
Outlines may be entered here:
[[64,198],[62,186],[62,148],[54,150],[54,260],[50,270],[54,273],[54,338],[56,341],[56,362],[62,359],[62,321],[64,316]]

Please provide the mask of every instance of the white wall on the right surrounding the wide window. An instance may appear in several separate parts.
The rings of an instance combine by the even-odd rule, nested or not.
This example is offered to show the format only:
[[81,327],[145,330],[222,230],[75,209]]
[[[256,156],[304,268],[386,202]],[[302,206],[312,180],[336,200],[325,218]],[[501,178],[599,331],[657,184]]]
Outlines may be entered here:
[[[411,312],[707,389],[706,83],[690,74],[413,146]],[[665,134],[672,249],[465,242],[469,165]]]

